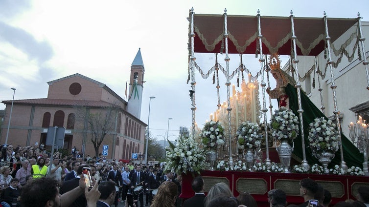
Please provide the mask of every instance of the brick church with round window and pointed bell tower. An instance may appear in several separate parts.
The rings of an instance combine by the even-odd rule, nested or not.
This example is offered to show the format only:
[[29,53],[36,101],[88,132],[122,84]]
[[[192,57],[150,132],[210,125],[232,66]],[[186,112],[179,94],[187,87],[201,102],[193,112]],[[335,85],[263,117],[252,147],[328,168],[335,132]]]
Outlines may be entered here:
[[[106,127],[107,134],[99,153],[102,153],[103,145],[109,146],[108,159],[129,160],[132,153],[143,153],[147,124],[140,120],[141,103],[137,103],[142,98],[143,74],[144,66],[138,50],[131,66],[128,102],[106,84],[78,73],[48,82],[47,98],[14,100],[8,144],[45,145],[48,127],[65,127],[63,148],[70,152],[75,146],[85,156],[92,157],[95,155],[92,144],[94,134],[89,118],[97,115],[107,117],[110,114],[105,120],[110,125]],[[135,91],[132,86],[138,89]],[[11,102],[2,101],[6,109],[1,143],[6,139],[5,126],[8,125]],[[130,111],[129,104],[135,104],[135,110]],[[46,145],[46,148],[51,146]]]

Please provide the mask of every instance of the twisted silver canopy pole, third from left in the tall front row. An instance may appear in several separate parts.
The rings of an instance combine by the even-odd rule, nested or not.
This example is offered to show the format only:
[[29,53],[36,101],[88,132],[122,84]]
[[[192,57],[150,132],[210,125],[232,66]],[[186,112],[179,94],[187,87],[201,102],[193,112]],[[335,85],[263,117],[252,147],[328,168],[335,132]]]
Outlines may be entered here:
[[[259,10],[257,10],[256,17],[257,17],[257,27],[258,27],[258,36],[257,36],[257,38],[258,38],[259,45],[260,45],[259,62],[260,62],[260,67],[261,67],[260,69],[262,70],[260,85],[262,86],[262,94],[263,94],[263,108],[261,109],[261,111],[263,112],[263,116],[264,116],[265,141],[266,141],[266,145],[265,145],[265,148],[266,148],[265,166],[267,166],[267,168],[270,169],[272,167],[272,162],[269,159],[268,126],[267,126],[267,111],[268,111],[268,109],[266,108],[266,101],[265,101],[265,86],[266,86],[266,83],[264,82],[264,72],[265,72],[264,63],[265,63],[265,59],[263,58],[263,46],[262,46],[262,42],[261,42],[261,39],[263,38],[263,36],[261,35],[260,11]],[[254,113],[256,113],[256,111],[254,111]]]

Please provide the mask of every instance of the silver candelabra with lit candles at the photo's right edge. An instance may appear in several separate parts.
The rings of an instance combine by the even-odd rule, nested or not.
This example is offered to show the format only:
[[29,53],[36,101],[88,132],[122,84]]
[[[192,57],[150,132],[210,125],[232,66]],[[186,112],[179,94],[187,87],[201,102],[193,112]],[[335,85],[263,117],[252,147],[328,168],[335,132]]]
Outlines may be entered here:
[[368,171],[368,152],[369,152],[369,139],[368,139],[368,124],[365,124],[365,120],[359,116],[357,123],[350,123],[348,125],[350,129],[350,138],[352,143],[357,144],[357,148],[364,154],[363,171],[366,176],[369,176]]

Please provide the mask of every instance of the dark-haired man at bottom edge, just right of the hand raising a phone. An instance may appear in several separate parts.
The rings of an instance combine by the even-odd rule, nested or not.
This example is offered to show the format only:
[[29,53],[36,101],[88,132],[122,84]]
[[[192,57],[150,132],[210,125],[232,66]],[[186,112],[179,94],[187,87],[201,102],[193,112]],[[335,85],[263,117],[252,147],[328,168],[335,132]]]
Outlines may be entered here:
[[96,207],[110,207],[115,202],[115,183],[112,181],[103,181],[99,184],[101,193]]

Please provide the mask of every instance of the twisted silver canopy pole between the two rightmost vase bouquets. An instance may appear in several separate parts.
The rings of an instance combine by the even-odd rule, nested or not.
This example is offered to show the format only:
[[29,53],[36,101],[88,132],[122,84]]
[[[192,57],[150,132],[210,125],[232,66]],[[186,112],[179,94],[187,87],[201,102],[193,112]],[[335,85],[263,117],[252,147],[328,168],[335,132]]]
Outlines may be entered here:
[[297,59],[297,52],[296,52],[296,35],[295,35],[295,25],[294,25],[294,16],[293,16],[293,12],[291,10],[290,12],[291,16],[291,32],[292,32],[292,41],[293,41],[293,46],[294,46],[294,63],[295,63],[295,70],[296,70],[296,88],[297,88],[297,97],[298,97],[298,102],[299,102],[299,110],[297,110],[297,112],[299,113],[300,116],[300,131],[301,131],[301,145],[302,145],[302,163],[301,166],[305,169],[308,170],[310,169],[309,164],[306,161],[306,153],[305,153],[305,136],[304,136],[304,132],[303,132],[303,120],[302,120],[302,106],[301,106],[301,84],[300,84],[300,80],[299,80],[299,69],[298,69],[298,64],[299,64],[299,60]]

